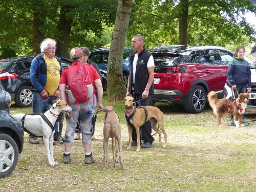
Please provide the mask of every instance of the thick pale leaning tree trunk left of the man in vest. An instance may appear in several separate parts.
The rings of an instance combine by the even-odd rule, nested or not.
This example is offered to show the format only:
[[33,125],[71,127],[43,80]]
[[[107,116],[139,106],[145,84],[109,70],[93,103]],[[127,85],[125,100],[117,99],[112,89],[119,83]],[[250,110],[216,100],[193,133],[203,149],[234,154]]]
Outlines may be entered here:
[[126,89],[122,77],[123,50],[135,0],[118,0],[117,14],[108,60],[109,102],[122,100]]

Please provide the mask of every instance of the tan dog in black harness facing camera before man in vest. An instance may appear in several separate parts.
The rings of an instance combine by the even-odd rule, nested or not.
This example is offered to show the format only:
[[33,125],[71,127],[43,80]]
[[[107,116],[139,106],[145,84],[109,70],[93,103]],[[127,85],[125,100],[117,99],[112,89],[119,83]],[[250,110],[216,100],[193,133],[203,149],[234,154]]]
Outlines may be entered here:
[[[134,103],[134,98],[130,96],[126,96],[124,98],[125,101],[125,114],[131,115],[135,109],[133,103]],[[163,119],[164,115],[163,113],[156,107],[156,106],[145,106],[147,110],[147,120],[150,120],[150,124],[153,130],[155,130],[157,133],[159,133],[159,128],[162,131],[164,135],[164,145],[163,147],[167,146],[167,135],[164,130],[164,124],[163,124]],[[146,114],[143,108],[136,108],[136,112],[134,116],[130,119],[130,122],[132,125],[135,127],[136,134],[137,134],[137,152],[140,151],[140,131],[139,127],[143,125],[146,121]],[[127,150],[131,149],[131,142],[132,142],[132,127],[129,125],[129,123],[126,120],[126,125],[128,127],[128,132],[129,132],[129,144],[127,147]],[[161,132],[159,134],[159,141],[161,142]]]

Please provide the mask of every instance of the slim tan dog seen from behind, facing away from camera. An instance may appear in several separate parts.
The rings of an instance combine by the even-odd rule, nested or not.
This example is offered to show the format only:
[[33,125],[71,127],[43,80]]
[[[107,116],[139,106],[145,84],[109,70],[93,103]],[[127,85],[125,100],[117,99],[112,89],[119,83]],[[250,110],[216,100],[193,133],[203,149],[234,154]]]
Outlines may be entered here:
[[[104,121],[104,128],[103,128],[103,150],[104,150],[104,157],[103,157],[103,168],[105,169],[105,162],[108,161],[108,143],[109,138],[112,137],[112,152],[113,152],[113,163],[115,167],[115,163],[118,163],[117,157],[117,144],[119,146],[119,161],[121,168],[123,167],[122,161],[122,140],[121,140],[121,126],[119,122],[119,117],[115,112],[113,106],[106,106],[106,115]],[[114,138],[115,138],[115,149],[116,153],[114,152]]]

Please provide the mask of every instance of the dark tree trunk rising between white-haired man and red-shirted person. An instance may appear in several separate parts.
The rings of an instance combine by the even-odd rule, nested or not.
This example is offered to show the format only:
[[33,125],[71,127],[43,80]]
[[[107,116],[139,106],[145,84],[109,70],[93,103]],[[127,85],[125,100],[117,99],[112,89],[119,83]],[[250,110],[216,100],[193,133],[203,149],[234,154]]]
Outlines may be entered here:
[[59,36],[57,37],[57,50],[56,55],[61,57],[68,57],[68,45],[71,33],[71,27],[73,23],[73,19],[67,20],[66,13],[70,11],[69,6],[61,6],[60,15],[59,15],[59,23],[58,23],[58,32]]

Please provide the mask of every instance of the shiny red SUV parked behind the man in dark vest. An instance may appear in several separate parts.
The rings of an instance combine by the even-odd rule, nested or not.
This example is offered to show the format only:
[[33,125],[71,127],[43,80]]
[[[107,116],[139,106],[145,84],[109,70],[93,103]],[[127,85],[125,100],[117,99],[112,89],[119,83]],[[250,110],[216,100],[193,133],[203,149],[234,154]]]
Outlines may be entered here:
[[210,91],[223,97],[231,51],[216,46],[162,46],[150,52],[155,59],[153,102],[182,104],[188,113],[201,113]]

